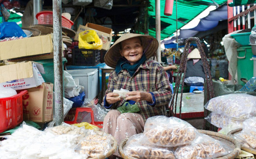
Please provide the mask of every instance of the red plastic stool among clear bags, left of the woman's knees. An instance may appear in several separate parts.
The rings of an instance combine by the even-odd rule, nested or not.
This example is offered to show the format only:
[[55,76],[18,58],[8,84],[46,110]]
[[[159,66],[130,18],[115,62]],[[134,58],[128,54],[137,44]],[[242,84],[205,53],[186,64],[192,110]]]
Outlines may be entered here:
[[93,110],[92,108],[76,108],[76,115],[75,115],[75,119],[73,121],[64,121],[67,124],[77,124],[77,118],[78,118],[78,113],[79,112],[89,112],[91,115],[91,119],[92,122],[90,122],[90,124],[94,125],[94,126],[98,126],[99,128],[103,128],[103,122],[95,122],[94,121],[94,116],[93,116]]

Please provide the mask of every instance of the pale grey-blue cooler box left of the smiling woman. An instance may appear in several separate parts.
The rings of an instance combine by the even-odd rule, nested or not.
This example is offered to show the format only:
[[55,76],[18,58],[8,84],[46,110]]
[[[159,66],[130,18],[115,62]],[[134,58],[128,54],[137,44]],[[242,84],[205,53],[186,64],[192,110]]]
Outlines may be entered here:
[[98,69],[77,69],[67,72],[73,79],[78,79],[80,86],[84,86],[85,98],[92,100],[98,95]]

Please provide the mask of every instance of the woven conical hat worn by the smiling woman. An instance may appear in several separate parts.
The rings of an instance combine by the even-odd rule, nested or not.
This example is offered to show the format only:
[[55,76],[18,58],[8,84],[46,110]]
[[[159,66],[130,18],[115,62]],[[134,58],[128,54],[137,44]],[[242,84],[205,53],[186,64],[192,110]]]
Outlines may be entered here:
[[156,38],[150,35],[126,33],[119,37],[119,39],[117,39],[116,42],[110,47],[110,49],[107,51],[104,57],[104,62],[108,66],[115,68],[118,60],[120,59],[120,57],[122,57],[119,52],[121,49],[121,42],[133,37],[140,37],[142,48],[146,55],[146,59],[153,56],[156,50],[158,49],[159,43]]

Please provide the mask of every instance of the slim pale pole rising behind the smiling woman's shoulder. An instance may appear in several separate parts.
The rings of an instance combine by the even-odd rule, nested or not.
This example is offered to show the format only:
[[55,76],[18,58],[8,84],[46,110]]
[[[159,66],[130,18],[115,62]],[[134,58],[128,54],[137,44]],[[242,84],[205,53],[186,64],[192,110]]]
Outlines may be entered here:
[[161,20],[160,20],[160,0],[156,0],[156,39],[158,41],[158,49],[156,51],[157,62],[161,62]]

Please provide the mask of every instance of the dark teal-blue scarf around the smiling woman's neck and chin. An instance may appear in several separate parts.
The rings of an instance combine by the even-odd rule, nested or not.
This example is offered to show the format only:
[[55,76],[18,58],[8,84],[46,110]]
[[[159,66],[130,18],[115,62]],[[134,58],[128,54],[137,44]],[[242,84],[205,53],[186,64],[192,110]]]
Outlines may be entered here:
[[146,55],[143,54],[139,61],[137,61],[133,65],[130,65],[129,61],[121,57],[116,64],[116,74],[120,73],[121,70],[126,69],[132,77],[138,67],[140,67],[140,65],[144,63],[146,59]]

